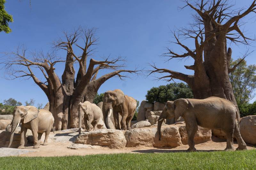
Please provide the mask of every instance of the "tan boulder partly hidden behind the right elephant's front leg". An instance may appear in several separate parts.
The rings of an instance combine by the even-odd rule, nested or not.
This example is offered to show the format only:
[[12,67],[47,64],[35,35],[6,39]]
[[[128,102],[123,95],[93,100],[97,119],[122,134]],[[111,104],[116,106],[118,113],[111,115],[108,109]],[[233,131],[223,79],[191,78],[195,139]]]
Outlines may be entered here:
[[[179,132],[180,132],[180,137],[181,137],[182,143],[188,144],[188,133],[187,133],[186,126],[184,124],[177,124],[175,126],[180,126]],[[198,126],[198,130],[196,131],[194,140],[195,140],[195,144],[201,144],[204,142],[211,141],[212,140],[211,129],[206,129],[206,128]]]

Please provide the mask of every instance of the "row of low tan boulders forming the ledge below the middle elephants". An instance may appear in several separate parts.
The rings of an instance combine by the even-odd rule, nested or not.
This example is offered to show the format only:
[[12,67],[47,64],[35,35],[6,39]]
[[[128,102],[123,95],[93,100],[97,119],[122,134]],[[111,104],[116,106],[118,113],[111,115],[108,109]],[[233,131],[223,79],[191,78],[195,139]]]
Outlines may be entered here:
[[[188,144],[185,124],[162,126],[161,140],[156,135],[156,127],[135,128],[126,131],[116,129],[99,129],[84,132],[76,138],[76,144],[99,145],[109,148],[124,147],[177,147]],[[212,131],[198,126],[195,143],[211,141]],[[91,146],[84,146],[91,148]]]

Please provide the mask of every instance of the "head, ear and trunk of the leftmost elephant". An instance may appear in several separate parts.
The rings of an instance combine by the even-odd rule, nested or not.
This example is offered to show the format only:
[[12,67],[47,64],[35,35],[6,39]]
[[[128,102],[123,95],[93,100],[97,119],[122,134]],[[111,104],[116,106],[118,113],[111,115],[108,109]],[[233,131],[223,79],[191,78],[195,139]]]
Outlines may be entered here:
[[14,131],[17,126],[19,126],[20,121],[23,121],[22,123],[27,123],[32,121],[38,116],[39,110],[34,106],[16,106],[13,111],[13,119],[12,119],[12,130],[11,130],[11,136],[10,141],[8,144],[8,148],[12,144],[12,139],[14,135]]

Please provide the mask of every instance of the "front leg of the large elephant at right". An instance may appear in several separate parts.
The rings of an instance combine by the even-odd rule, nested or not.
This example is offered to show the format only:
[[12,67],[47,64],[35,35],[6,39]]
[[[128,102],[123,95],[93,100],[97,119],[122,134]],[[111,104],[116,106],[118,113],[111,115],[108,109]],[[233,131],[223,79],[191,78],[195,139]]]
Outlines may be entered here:
[[186,129],[188,133],[188,145],[189,145],[188,151],[189,152],[196,151],[195,141],[194,141],[196,131],[198,130],[196,119],[193,122],[186,123]]

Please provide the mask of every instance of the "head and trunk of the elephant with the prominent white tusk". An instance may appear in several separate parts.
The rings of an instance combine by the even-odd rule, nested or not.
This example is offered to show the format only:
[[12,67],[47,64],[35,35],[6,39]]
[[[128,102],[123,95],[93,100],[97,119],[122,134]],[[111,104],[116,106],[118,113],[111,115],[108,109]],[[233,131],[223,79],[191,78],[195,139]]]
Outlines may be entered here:
[[124,102],[124,92],[122,92],[122,90],[116,89],[116,90],[107,91],[104,93],[102,113],[104,117],[104,122],[108,129],[110,129],[110,126],[108,124],[108,119],[113,112],[113,107],[117,107],[123,102]]

